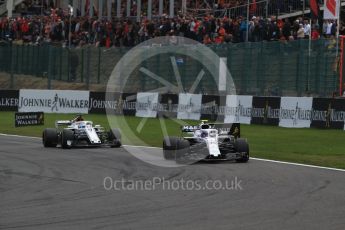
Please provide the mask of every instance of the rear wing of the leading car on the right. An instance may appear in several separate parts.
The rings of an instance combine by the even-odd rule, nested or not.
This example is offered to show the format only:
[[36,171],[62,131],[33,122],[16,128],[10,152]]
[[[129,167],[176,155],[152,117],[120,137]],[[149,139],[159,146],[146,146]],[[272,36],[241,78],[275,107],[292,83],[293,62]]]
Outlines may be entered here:
[[181,127],[184,133],[192,133],[199,129],[217,129],[220,135],[241,137],[240,123],[206,123],[202,125],[184,125]]

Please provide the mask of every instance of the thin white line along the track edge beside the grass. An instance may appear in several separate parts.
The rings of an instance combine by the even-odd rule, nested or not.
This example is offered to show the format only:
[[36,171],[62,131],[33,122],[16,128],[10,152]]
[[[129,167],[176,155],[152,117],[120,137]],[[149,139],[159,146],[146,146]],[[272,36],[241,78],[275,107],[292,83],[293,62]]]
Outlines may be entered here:
[[[40,137],[21,136],[21,135],[5,134],[5,133],[0,133],[0,136],[30,138],[30,139],[39,139],[39,140],[41,139]],[[159,147],[151,147],[151,146],[137,146],[137,145],[123,145],[123,146],[124,147],[134,147],[134,148],[162,149]],[[250,160],[263,161],[263,162],[276,163],[276,164],[294,165],[294,166],[316,168],[316,169],[326,169],[326,170],[332,170],[332,171],[338,171],[338,172],[345,172],[345,169],[337,169],[337,168],[329,168],[329,167],[316,166],[316,165],[292,163],[292,162],[286,162],[286,161],[275,161],[275,160],[268,160],[268,159],[262,159],[262,158],[256,158],[256,157],[251,157]]]

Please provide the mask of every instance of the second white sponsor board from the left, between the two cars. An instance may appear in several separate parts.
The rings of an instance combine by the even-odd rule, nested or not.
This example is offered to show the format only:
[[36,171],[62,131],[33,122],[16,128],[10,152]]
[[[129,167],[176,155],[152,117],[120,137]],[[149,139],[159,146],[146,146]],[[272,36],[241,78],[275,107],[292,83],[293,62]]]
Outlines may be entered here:
[[135,116],[156,117],[157,111],[161,110],[159,107],[158,93],[138,93]]

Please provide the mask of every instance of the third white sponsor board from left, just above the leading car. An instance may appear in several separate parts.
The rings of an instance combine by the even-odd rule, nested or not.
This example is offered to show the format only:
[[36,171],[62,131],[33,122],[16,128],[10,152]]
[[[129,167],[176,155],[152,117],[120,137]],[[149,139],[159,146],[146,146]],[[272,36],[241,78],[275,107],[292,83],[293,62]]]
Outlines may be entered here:
[[200,120],[201,94],[180,93],[177,118],[182,120]]

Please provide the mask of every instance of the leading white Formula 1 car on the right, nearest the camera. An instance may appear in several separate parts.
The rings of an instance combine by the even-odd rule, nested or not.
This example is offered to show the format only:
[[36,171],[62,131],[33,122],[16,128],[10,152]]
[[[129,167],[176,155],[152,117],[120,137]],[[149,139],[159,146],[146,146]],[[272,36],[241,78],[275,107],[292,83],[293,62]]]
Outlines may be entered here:
[[197,161],[249,160],[249,145],[240,138],[240,124],[212,124],[202,121],[198,126],[183,126],[184,137],[164,137],[163,155],[167,160],[188,164]]

